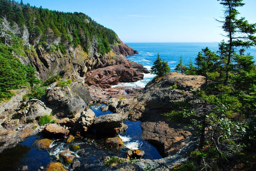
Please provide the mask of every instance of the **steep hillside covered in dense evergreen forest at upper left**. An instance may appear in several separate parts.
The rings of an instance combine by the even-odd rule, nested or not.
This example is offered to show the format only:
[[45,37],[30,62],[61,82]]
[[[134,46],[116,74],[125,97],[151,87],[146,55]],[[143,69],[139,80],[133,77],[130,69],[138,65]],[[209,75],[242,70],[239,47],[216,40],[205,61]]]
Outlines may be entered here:
[[[14,0],[1,0],[0,16],[6,35],[17,37],[16,41],[26,46],[42,44],[47,49],[57,46],[65,53],[67,46],[76,47],[80,44],[86,52],[94,47],[104,55],[110,51],[110,44],[119,42],[114,31],[81,12],[50,11],[23,4],[22,1],[19,4]],[[1,40],[8,45],[14,43],[9,36]]]

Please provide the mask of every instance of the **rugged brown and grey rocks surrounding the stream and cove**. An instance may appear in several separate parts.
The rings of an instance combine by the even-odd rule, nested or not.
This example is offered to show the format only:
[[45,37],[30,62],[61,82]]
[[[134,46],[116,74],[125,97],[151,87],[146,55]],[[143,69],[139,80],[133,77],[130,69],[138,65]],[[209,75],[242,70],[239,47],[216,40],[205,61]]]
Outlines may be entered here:
[[[193,103],[192,91],[201,88],[204,84],[204,77],[172,72],[148,83],[144,89],[111,88],[111,85],[119,82],[141,80],[143,73],[148,73],[141,64],[131,62],[123,56],[133,55],[137,51],[124,44],[116,48],[112,47],[112,49],[116,53],[115,56],[94,54],[87,62],[75,65],[81,59],[81,56],[77,55],[76,59],[72,59],[73,66],[76,67],[63,70],[68,66],[67,63],[61,62],[60,52],[49,55],[39,47],[38,58],[34,56],[33,59],[35,59],[34,66],[42,80],[47,78],[47,72],[50,70],[53,72],[63,70],[64,76],[68,76],[71,72],[74,81],[67,86],[58,86],[56,82],[49,85],[45,97],[41,99],[43,102],[33,101],[22,106],[20,102],[24,92],[28,92],[26,90],[17,93],[12,103],[6,103],[5,106],[7,105],[8,108],[2,111],[0,117],[0,152],[16,146],[25,138],[35,134],[42,134],[45,138],[33,143],[38,150],[50,150],[52,138],[60,138],[66,144],[70,144],[74,140],[92,143],[93,137],[105,138],[103,144],[95,144],[99,149],[119,149],[123,148],[124,143],[118,134],[127,129],[123,121],[140,120],[142,138],[153,144],[165,158],[144,160],[142,159],[144,151],[126,149],[126,159],[118,158],[121,162],[118,162],[115,167],[104,165],[106,161],[111,160],[108,156],[108,158],[102,158],[98,164],[82,165],[79,161],[81,159],[70,151],[77,151],[82,156],[84,152],[80,150],[79,145],[72,145],[55,155],[56,162],[51,162],[39,170],[50,171],[56,168],[65,170],[67,167],[63,168],[62,165],[75,170],[95,170],[95,168],[99,170],[120,170],[121,168],[145,170],[148,166],[154,170],[168,170],[187,160],[197,139],[192,138],[192,133],[184,129],[185,123],[167,121],[161,114],[175,108],[175,102],[187,100]],[[79,48],[73,50],[75,51],[77,53]],[[36,62],[39,59],[43,61],[44,66]],[[27,61],[25,58],[22,60]],[[177,88],[171,89],[170,87],[174,84],[178,85]],[[92,103],[105,103],[107,106],[102,107],[101,110],[111,110],[113,114],[96,117],[94,112],[88,108],[88,105]],[[20,107],[17,108],[17,106]],[[51,122],[54,122],[39,126],[37,122],[44,115],[50,115]],[[136,162],[131,162],[134,158],[137,159]],[[22,169],[28,170],[29,168],[24,166]]]

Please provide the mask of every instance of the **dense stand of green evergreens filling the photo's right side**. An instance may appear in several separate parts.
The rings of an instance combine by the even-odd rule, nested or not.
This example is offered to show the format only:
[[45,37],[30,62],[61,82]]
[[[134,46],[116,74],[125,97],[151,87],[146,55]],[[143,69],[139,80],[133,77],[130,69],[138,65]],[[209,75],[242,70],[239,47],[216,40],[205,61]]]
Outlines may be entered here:
[[[173,170],[230,170],[232,162],[241,163],[236,165],[239,170],[254,169],[242,167],[256,161],[256,68],[244,49],[256,45],[256,24],[236,18],[236,7],[244,5],[242,0],[221,0],[220,4],[225,9],[220,22],[228,41],[219,44],[217,53],[208,47],[202,49],[195,59],[196,67],[190,62],[183,70],[205,76],[203,90],[194,92],[201,101],[163,114],[168,120],[188,123],[187,128],[200,140],[191,160]],[[180,66],[182,58],[176,71],[181,71]]]

